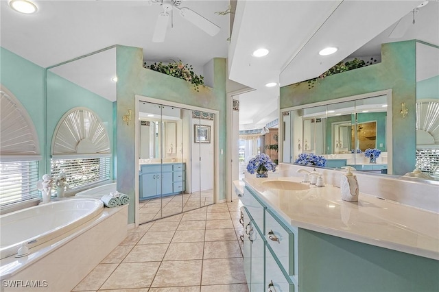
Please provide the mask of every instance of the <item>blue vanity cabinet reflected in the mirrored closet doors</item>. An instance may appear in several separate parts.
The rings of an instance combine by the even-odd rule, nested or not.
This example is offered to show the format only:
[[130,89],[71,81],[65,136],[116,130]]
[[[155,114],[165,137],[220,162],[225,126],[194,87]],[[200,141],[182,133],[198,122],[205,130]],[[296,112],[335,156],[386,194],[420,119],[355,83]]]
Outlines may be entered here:
[[186,186],[185,170],[184,163],[141,165],[139,174],[140,199],[182,193]]

